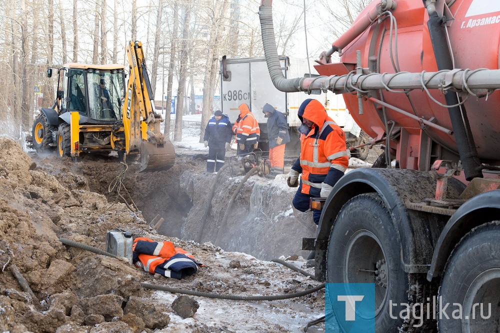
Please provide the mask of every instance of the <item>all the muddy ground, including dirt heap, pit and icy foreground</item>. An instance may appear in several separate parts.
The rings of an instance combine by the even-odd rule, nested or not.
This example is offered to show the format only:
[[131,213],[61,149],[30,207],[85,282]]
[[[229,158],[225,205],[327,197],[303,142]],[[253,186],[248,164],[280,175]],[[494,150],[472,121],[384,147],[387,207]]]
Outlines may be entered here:
[[[140,286],[260,295],[317,285],[260,260],[291,255],[297,259],[291,262],[313,273],[305,267],[300,242],[315,227],[308,214],[291,208],[294,189],[284,185],[284,175],[250,177],[229,205],[243,176],[204,174],[204,161],[191,157],[177,156],[168,171],[138,173],[137,163],[125,167],[115,157],[83,156],[73,163],[52,154],[28,155],[0,137],[0,329],[287,332],[321,316],[323,290],[272,302],[189,296],[199,308],[184,318],[172,309],[180,294]],[[158,232],[149,226],[156,215],[164,218]],[[167,279],[59,241],[104,250],[107,231],[118,227],[134,238],[170,240],[204,266],[185,279]],[[314,329],[324,328],[309,331]]]

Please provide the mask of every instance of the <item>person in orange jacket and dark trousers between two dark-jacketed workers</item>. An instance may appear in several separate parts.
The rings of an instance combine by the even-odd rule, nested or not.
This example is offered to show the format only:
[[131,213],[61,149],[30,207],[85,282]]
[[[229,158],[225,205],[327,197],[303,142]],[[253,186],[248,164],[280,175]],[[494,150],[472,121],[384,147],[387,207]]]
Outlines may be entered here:
[[232,126],[232,131],[236,135],[237,154],[244,155],[257,148],[260,128],[247,104],[243,103],[238,108],[239,116]]

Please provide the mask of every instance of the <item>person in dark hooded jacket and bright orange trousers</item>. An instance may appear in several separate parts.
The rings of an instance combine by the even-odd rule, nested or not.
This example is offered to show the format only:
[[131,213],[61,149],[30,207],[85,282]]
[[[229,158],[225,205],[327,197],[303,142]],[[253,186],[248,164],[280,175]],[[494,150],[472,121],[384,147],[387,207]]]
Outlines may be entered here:
[[284,147],[290,142],[288,123],[283,113],[275,110],[271,104],[265,103],[262,107],[264,117],[267,118],[267,139],[269,140],[269,161],[271,162],[270,177],[275,177],[284,171]]

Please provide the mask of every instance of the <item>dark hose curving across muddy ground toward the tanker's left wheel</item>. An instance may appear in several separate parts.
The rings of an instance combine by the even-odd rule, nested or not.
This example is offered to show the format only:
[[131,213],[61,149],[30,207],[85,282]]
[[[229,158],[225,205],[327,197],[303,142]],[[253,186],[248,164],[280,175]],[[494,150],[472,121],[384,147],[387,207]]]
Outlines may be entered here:
[[209,292],[201,292],[196,290],[186,290],[179,288],[172,288],[165,285],[156,285],[146,282],[140,282],[140,286],[143,288],[162,290],[173,293],[182,293],[186,295],[192,296],[200,296],[200,297],[209,297],[209,298],[218,298],[218,299],[230,299],[230,300],[277,300],[277,299],[288,299],[295,298],[308,295],[309,293],[313,293],[324,288],[324,283],[318,284],[313,288],[306,289],[303,291],[286,293],[281,295],[260,295],[260,296],[237,296],[237,295],[221,295],[218,293],[209,293]]

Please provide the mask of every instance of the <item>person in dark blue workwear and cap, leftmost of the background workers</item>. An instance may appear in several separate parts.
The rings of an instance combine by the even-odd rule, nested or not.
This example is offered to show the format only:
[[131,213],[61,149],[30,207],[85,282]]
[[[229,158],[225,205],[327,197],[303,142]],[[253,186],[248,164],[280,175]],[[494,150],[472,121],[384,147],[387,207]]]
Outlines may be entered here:
[[208,145],[208,159],[206,160],[206,171],[217,172],[224,165],[225,150],[229,148],[231,142],[232,127],[227,115],[220,110],[213,113],[213,117],[208,120],[203,136],[205,147]]

